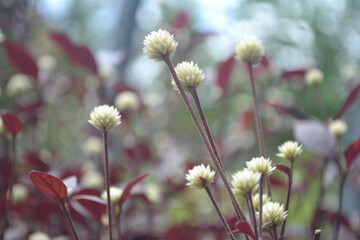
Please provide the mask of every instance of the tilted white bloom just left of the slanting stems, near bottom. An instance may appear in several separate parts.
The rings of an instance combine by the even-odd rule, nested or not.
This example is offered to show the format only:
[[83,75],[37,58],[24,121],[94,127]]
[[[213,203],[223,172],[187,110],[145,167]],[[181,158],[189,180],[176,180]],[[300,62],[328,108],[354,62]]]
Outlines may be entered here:
[[210,166],[204,166],[204,164],[195,166],[189,170],[186,174],[185,179],[188,181],[187,186],[191,188],[204,188],[214,181],[215,172],[211,171]]

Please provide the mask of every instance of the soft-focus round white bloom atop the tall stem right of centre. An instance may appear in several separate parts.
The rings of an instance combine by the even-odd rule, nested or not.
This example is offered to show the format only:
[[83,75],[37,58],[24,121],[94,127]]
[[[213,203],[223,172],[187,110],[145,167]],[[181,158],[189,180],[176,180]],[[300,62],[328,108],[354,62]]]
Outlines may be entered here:
[[261,41],[254,36],[246,36],[235,46],[235,53],[239,60],[251,64],[257,64],[265,54]]

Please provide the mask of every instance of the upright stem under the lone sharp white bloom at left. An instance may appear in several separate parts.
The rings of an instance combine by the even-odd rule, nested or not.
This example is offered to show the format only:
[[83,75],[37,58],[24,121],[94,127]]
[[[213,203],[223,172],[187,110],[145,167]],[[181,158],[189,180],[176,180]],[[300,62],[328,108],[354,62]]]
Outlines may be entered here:
[[103,130],[104,139],[104,174],[106,182],[106,195],[107,195],[107,214],[109,219],[109,240],[112,240],[112,221],[111,221],[111,196],[110,196],[110,176],[109,176],[109,156],[108,156],[108,142],[107,131]]

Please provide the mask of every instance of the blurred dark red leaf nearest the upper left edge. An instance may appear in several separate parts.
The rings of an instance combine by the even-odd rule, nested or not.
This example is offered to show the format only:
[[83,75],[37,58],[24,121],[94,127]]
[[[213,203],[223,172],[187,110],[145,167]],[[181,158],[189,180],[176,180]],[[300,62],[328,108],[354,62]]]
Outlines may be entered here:
[[7,59],[18,69],[19,72],[38,78],[39,69],[29,52],[21,45],[13,42],[4,42]]

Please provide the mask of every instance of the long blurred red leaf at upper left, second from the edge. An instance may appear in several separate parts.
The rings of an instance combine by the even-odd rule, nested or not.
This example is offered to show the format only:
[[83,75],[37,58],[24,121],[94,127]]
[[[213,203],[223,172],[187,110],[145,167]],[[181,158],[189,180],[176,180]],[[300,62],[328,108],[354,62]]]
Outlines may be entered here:
[[98,74],[95,58],[86,46],[76,45],[68,36],[61,32],[52,32],[50,38],[60,45],[71,62],[89,70],[95,75]]

